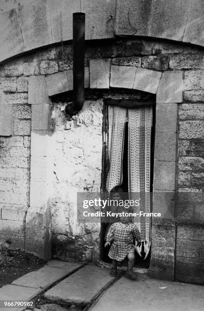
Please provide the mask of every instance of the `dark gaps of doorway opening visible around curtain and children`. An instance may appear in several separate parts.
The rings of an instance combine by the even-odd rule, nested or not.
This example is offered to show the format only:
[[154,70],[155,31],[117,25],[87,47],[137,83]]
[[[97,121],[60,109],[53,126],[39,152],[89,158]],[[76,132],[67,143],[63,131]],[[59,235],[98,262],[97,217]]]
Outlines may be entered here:
[[[106,105],[105,105],[106,106]],[[107,106],[104,107],[104,121],[107,121]],[[104,125],[107,127],[107,125]],[[155,105],[152,105],[152,129],[151,129],[151,154],[150,154],[150,162],[151,162],[151,169],[150,169],[150,192],[153,190],[153,166],[154,166],[154,135],[155,135]],[[102,168],[104,169],[104,167]],[[123,183],[121,184],[124,192],[128,193],[128,121],[126,122],[125,126],[125,140],[124,140],[124,153],[123,153]],[[151,206],[152,209],[152,206]],[[110,247],[105,248],[105,234],[107,231],[108,224],[101,223],[101,239],[100,239],[100,254],[101,259],[107,263],[111,263],[111,259],[108,257],[108,252]],[[135,267],[138,268],[149,268],[150,265],[150,257],[151,257],[151,248],[147,258],[144,260],[145,253],[143,252],[144,247],[142,247],[142,257],[138,255],[135,251]],[[122,266],[127,266],[128,259],[126,258],[124,262],[121,263]]]

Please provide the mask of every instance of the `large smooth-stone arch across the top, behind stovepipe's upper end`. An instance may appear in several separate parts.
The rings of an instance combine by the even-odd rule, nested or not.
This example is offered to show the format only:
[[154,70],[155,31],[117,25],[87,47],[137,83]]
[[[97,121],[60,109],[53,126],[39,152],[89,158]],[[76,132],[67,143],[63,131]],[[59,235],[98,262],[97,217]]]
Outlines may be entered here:
[[72,13],[86,13],[86,40],[145,36],[203,46],[202,0],[10,0],[0,2],[0,61],[72,40]]

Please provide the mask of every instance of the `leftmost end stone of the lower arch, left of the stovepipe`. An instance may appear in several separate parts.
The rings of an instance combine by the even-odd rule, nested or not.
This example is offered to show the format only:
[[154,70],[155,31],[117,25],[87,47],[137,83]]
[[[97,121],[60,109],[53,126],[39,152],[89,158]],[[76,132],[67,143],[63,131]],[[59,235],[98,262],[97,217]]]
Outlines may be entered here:
[[28,79],[28,104],[49,104],[51,99],[48,95],[45,77],[30,76]]

